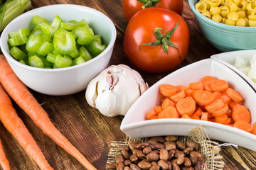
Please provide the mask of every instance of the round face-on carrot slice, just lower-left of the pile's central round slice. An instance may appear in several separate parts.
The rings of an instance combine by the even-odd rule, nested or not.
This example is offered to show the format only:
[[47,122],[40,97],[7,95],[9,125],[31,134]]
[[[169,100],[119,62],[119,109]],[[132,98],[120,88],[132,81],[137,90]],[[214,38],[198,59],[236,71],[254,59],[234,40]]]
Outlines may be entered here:
[[181,98],[176,104],[176,108],[180,115],[192,115],[196,110],[196,101],[193,98]]

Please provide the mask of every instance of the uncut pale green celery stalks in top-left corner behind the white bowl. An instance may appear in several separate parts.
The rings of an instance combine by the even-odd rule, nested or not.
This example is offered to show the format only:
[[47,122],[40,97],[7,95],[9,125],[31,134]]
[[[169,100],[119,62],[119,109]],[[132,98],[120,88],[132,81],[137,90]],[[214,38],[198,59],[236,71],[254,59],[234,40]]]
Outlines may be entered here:
[[6,1],[6,3],[5,11],[3,10],[3,6],[1,6],[1,10],[4,11],[4,18],[1,22],[0,31],[4,30],[7,24],[14,20],[14,18],[31,8],[30,0],[12,0]]

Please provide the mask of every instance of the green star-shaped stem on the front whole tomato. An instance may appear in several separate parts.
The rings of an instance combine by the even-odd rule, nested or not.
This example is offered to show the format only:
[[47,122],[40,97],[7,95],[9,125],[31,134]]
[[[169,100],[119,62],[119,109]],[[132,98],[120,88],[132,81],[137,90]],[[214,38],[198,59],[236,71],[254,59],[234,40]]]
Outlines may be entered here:
[[[166,34],[166,30],[164,30],[164,28],[155,28],[154,34],[155,34],[157,40],[154,42],[144,43],[141,45],[161,45],[163,47],[164,52],[166,52],[167,55],[169,55],[169,52],[168,52],[169,47],[175,47],[178,50],[178,56],[179,56],[180,60],[182,61],[180,48],[178,46],[174,45],[174,42],[171,42],[171,40],[170,40],[171,35],[174,34],[176,28],[178,27],[178,23],[179,23],[179,21],[176,23],[176,26],[173,29],[171,29],[169,31],[169,33],[167,33],[167,34]],[[164,32],[165,32],[164,35],[160,32],[160,30],[164,30]],[[139,45],[139,50],[140,50],[141,45]]]

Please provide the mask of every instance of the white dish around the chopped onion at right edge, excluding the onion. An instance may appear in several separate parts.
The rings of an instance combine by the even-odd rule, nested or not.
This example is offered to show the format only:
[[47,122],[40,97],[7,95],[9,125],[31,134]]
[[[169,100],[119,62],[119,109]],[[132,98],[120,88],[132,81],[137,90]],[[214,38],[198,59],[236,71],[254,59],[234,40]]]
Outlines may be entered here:
[[253,82],[246,74],[241,72],[239,69],[233,66],[235,63],[235,57],[243,57],[245,60],[250,60],[253,55],[256,55],[256,50],[238,50],[233,52],[222,52],[220,54],[212,55],[210,58],[217,60],[218,62],[222,62],[230,69],[233,69],[234,72],[240,75],[242,79],[245,79],[250,86],[256,91],[255,82]]

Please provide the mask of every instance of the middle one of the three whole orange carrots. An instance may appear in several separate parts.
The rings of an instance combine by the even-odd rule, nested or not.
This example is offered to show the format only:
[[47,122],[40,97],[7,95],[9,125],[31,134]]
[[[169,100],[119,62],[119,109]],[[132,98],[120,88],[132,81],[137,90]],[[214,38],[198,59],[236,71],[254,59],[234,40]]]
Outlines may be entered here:
[[8,94],[4,91],[0,84],[0,121],[4,124],[4,127],[14,135],[18,143],[23,147],[29,157],[33,159],[40,169],[53,169],[46,161],[46,157],[41,152],[41,149],[33,140],[32,135],[28,132],[28,129],[24,125],[21,118],[12,106],[11,99]]

